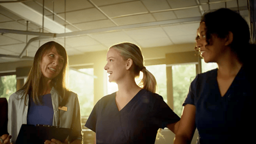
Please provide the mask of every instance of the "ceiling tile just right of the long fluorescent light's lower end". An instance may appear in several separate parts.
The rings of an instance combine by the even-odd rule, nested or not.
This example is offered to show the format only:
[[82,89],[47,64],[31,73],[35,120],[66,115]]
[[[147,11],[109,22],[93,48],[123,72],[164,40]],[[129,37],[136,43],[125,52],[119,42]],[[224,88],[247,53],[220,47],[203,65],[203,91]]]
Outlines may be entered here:
[[88,29],[115,27],[116,25],[111,20],[98,20],[98,21],[75,24],[75,26],[82,30],[88,30]]

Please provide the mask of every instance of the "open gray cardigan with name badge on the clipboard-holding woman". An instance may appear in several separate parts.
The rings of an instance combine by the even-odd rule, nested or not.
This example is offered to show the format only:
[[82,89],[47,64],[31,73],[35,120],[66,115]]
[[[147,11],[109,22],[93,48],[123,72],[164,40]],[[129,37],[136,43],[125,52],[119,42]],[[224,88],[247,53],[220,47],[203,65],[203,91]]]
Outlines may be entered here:
[[[52,125],[63,128],[72,128],[76,139],[83,141],[80,104],[77,94],[70,92],[67,104],[65,105],[68,108],[67,111],[58,109],[59,95],[53,87],[51,95],[54,112]],[[25,97],[23,96],[21,99],[20,98],[21,94],[13,93],[8,100],[8,132],[12,135],[11,142],[13,143],[15,143],[18,137],[21,125],[27,124],[29,98],[27,97],[26,105],[24,104]],[[59,119],[60,125],[57,125]]]

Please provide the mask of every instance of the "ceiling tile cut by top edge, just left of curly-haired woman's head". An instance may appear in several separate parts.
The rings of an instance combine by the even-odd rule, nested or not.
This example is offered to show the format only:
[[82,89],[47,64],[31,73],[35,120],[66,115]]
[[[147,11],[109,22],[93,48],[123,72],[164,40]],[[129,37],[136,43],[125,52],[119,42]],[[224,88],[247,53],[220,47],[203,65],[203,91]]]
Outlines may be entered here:
[[180,8],[197,5],[195,0],[167,0],[172,8]]

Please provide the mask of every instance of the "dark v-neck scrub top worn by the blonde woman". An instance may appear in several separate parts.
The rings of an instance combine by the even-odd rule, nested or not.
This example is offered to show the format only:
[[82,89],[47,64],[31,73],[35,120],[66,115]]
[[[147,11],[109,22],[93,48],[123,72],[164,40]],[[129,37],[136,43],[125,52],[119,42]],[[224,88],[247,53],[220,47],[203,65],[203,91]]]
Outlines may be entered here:
[[154,144],[157,130],[180,120],[163,97],[140,90],[118,111],[116,92],[101,98],[85,126],[96,132],[97,144]]

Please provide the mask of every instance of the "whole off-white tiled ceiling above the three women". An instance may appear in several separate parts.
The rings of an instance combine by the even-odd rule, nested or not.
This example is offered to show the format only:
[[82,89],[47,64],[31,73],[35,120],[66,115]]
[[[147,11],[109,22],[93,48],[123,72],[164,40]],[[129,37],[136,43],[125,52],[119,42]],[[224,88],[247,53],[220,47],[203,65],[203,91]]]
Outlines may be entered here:
[[[28,35],[26,40],[26,35],[17,34],[27,30],[27,20],[29,32],[43,32],[43,0],[3,1],[0,31],[19,31],[5,30],[0,35],[0,63],[22,60],[7,55],[19,56],[26,41],[39,36]],[[57,35],[32,42],[22,56],[33,57],[40,45],[51,40],[65,46],[68,55],[107,50],[120,42],[141,48],[194,43],[202,14],[225,7],[239,8],[249,20],[247,0],[66,0],[66,10],[65,0],[44,0],[44,33]],[[60,37],[65,26],[69,35]]]

